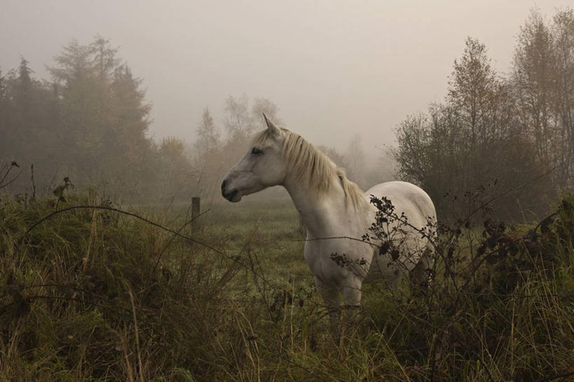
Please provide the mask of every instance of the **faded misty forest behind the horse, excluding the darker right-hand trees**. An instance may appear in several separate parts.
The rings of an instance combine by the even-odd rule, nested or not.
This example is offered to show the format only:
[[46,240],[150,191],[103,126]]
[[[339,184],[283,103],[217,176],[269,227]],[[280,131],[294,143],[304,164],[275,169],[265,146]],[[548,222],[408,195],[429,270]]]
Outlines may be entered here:
[[[48,71],[49,81],[36,79],[24,57],[17,69],[0,71],[0,164],[6,170],[14,161],[10,176],[20,176],[6,189],[19,197],[51,196],[64,177],[82,189],[135,201],[212,195],[244,154],[250,135],[264,128],[261,114],[280,122],[270,100],[229,96],[224,134],[206,107],[196,142],[188,146],[177,137],[154,142],[146,136],[151,105],[142,80],[107,39],[97,36],[88,45],[72,41]],[[362,179],[358,137],[349,156],[322,149]]]

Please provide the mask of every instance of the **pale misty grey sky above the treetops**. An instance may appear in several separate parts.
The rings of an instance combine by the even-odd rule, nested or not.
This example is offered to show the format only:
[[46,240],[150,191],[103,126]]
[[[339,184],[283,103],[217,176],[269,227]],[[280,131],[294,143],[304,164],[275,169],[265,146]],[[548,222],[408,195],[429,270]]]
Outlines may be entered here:
[[287,128],[344,149],[390,144],[407,114],[444,97],[465,38],[510,68],[531,8],[548,18],[566,0],[25,1],[0,0],[0,69],[29,60],[36,76],[71,39],[96,34],[144,79],[150,135],[193,142],[210,107],[221,126],[228,95],[267,97]]

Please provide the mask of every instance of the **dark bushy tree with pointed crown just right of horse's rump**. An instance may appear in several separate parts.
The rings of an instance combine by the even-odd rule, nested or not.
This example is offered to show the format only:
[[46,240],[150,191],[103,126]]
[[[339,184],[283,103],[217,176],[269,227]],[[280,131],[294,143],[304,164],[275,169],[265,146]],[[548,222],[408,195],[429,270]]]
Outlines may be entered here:
[[[514,192],[493,205],[500,214],[515,214],[517,203],[529,210],[540,207],[533,198],[540,188],[520,187],[541,171],[517,123],[512,86],[489,61],[486,47],[467,39],[445,102],[432,105],[428,114],[409,116],[397,129],[399,147],[392,155],[399,177],[422,186],[442,213],[450,208],[464,214],[508,190]],[[457,197],[454,203],[444,199],[447,192]]]

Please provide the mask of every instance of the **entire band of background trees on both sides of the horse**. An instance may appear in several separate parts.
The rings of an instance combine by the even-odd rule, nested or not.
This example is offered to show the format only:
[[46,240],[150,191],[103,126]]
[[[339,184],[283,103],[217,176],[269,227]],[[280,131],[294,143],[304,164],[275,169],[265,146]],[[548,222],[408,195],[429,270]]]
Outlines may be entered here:
[[[109,41],[72,41],[48,70],[50,80],[36,79],[22,58],[17,69],[0,72],[0,164],[16,161],[22,171],[11,191],[33,192],[33,164],[34,182],[48,194],[69,177],[112,196],[212,195],[250,134],[263,128],[261,113],[280,123],[270,100],[230,96],[221,130],[205,108],[192,145],[177,137],[154,142],[146,136],[151,106],[142,80]],[[509,74],[493,69],[484,44],[467,39],[444,101],[405,118],[390,156],[397,178],[425,189],[443,216],[491,200],[500,215],[528,220],[574,187],[573,121],[573,11],[551,20],[533,11]],[[383,166],[365,163],[358,137],[343,154],[321,149],[360,186],[389,180],[365,170]]]

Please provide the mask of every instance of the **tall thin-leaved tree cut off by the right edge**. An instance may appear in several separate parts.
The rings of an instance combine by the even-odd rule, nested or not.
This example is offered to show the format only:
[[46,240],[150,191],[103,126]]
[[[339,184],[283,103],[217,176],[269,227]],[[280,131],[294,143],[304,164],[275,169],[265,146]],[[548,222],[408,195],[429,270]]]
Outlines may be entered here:
[[512,74],[521,127],[559,188],[574,186],[574,13],[552,24],[532,11],[520,29]]

